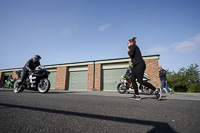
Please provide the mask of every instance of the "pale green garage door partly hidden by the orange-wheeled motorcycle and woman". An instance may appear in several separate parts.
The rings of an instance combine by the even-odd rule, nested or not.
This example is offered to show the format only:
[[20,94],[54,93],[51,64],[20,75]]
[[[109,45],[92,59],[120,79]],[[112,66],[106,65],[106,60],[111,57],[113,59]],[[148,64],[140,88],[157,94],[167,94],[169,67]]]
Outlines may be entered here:
[[103,70],[103,79],[102,86],[103,90],[116,90],[117,85],[120,83],[121,76],[124,76],[126,73],[125,68],[123,69],[106,69]]

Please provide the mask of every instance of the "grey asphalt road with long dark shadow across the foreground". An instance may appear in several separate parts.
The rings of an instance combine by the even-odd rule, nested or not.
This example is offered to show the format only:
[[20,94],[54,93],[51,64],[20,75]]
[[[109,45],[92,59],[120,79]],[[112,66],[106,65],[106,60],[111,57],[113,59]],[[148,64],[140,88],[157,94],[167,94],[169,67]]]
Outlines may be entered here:
[[200,133],[200,94],[130,96],[0,88],[0,133]]

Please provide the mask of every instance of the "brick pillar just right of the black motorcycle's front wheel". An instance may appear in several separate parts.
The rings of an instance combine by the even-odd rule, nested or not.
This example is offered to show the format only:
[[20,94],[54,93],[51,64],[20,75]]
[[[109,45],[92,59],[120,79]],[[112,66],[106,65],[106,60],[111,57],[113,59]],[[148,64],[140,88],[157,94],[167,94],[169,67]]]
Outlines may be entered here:
[[67,90],[68,89],[67,85],[68,85],[68,68],[57,67],[55,88],[58,90]]

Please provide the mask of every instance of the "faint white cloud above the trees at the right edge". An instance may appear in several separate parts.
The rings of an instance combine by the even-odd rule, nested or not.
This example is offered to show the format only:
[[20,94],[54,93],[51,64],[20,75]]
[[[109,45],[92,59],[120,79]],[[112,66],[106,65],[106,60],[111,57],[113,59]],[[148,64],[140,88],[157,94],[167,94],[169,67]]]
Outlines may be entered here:
[[174,50],[180,53],[192,52],[200,48],[200,34],[180,43],[173,44]]

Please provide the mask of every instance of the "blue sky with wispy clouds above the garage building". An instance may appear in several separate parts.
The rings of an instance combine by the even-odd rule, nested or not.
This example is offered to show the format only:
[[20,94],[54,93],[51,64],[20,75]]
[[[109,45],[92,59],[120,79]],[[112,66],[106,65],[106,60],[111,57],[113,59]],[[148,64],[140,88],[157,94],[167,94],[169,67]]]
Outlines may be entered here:
[[124,58],[133,36],[165,69],[200,65],[200,0],[0,0],[0,69]]

